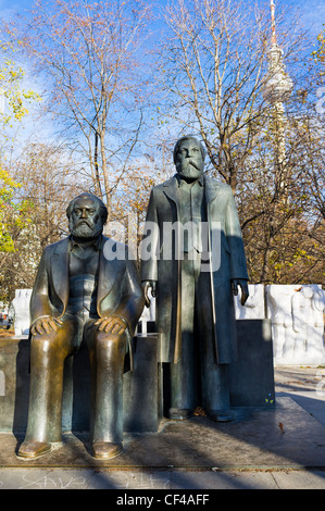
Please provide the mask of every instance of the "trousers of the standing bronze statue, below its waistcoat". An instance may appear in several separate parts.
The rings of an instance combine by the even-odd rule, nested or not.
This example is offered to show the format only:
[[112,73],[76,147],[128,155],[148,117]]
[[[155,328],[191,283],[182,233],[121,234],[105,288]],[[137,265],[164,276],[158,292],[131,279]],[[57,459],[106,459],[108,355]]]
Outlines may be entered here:
[[228,364],[216,363],[209,272],[201,272],[200,254],[182,261],[182,354],[165,364],[167,408],[207,411],[230,407]]

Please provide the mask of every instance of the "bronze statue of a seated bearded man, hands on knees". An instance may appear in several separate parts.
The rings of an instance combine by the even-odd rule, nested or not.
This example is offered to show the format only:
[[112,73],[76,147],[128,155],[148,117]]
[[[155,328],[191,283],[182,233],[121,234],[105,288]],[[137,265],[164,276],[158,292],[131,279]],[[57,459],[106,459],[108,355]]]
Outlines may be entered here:
[[[45,249],[30,299],[28,425],[18,457],[36,459],[61,440],[63,365],[86,342],[90,357],[90,441],[96,458],[123,448],[124,358],[145,304],[134,261],[105,257],[108,211],[90,194],[66,210],[71,236]],[[118,253],[122,253],[120,251]]]

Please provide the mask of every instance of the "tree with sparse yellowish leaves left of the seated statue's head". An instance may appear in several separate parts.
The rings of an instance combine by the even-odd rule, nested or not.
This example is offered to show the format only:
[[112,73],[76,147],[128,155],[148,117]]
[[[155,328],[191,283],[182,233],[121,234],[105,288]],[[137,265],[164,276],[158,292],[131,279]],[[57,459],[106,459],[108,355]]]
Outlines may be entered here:
[[28,144],[5,166],[20,184],[12,197],[20,209],[7,222],[13,250],[0,258],[1,296],[10,301],[14,289],[33,287],[45,247],[67,234],[68,201],[87,188],[66,151],[53,145]]

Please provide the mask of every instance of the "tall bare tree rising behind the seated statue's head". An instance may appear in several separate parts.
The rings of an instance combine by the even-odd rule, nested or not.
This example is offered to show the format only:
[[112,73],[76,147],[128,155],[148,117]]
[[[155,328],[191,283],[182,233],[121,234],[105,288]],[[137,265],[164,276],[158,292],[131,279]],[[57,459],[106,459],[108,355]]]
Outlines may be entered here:
[[148,13],[137,0],[37,0],[32,17],[8,29],[33,57],[37,76],[46,80],[47,109],[79,148],[82,163],[86,155],[93,191],[109,213],[116,175],[142,122],[138,49]]

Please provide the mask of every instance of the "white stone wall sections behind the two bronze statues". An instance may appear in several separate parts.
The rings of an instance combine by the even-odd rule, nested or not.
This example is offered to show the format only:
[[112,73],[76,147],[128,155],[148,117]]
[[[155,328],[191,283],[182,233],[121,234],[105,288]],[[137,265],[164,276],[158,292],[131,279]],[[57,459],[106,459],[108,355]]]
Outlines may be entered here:
[[[30,289],[17,289],[15,335],[28,334]],[[324,311],[325,290],[310,285],[249,285],[249,298],[242,307],[240,290],[234,298],[236,319],[272,322],[275,365],[325,365]],[[146,332],[146,321],[155,319],[155,300],[150,297],[150,308],[140,317]]]

